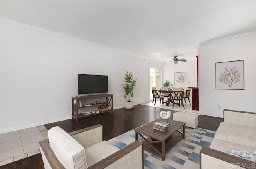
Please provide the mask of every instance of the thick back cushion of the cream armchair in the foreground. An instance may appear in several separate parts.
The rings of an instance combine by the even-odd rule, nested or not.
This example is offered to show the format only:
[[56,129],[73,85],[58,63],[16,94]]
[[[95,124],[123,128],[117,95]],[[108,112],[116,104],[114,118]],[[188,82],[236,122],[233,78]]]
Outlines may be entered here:
[[48,131],[52,151],[68,169],[86,169],[86,153],[84,147],[66,131],[56,126]]

